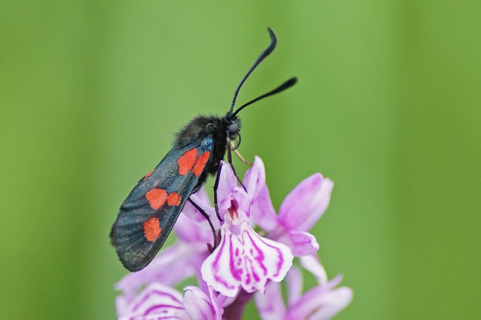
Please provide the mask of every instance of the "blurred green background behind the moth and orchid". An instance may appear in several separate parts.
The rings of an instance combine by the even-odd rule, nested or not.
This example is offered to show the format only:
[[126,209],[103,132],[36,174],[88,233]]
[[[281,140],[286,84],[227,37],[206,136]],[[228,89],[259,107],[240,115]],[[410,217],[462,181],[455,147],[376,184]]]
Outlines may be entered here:
[[278,48],[238,102],[299,83],[242,111],[240,151],[276,207],[334,180],[312,232],[354,289],[336,319],[479,319],[481,2],[1,8],[0,319],[114,319],[120,203],[181,125],[227,110],[268,25]]

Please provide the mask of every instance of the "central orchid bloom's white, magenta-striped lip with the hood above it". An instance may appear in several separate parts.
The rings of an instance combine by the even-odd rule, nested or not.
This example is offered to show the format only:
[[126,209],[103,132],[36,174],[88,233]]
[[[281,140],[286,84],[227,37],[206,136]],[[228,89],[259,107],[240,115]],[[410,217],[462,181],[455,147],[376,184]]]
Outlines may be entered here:
[[220,245],[202,264],[203,280],[224,296],[235,296],[240,287],[246,292],[265,292],[268,280],[281,281],[291,268],[291,249],[260,237],[249,225],[250,199],[237,187],[230,166],[222,166],[220,181],[235,187],[223,194],[223,203],[229,201],[230,206],[224,205]]

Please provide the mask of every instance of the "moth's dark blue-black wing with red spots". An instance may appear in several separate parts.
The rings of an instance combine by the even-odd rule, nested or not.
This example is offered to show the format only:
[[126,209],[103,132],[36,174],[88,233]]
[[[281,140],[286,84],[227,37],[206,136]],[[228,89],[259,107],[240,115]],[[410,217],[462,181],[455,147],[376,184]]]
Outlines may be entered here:
[[110,238],[128,270],[145,268],[162,247],[212,150],[210,135],[174,146],[122,203]]

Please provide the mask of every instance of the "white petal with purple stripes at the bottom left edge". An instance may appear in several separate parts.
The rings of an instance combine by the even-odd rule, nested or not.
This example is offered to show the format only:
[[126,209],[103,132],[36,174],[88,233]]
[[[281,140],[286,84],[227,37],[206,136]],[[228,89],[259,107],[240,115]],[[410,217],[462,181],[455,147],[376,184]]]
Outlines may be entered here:
[[119,320],[153,320],[159,315],[162,319],[189,320],[180,292],[164,284],[153,283],[129,303]]

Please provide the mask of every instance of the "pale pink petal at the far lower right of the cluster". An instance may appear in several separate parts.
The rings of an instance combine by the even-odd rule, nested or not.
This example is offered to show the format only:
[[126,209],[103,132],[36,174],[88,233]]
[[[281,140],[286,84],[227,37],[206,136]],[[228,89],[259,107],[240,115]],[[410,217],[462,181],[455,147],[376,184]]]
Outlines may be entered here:
[[328,320],[347,307],[352,297],[353,291],[348,287],[329,290],[317,286],[307,291],[289,308],[286,319]]

